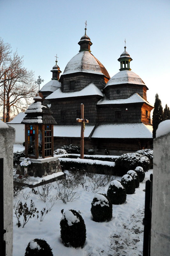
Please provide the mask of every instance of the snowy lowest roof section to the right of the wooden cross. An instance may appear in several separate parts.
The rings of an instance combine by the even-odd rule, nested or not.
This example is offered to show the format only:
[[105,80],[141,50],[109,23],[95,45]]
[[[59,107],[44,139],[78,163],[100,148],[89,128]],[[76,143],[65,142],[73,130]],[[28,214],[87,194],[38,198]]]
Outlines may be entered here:
[[103,124],[97,126],[92,138],[152,138],[152,125],[135,124]]

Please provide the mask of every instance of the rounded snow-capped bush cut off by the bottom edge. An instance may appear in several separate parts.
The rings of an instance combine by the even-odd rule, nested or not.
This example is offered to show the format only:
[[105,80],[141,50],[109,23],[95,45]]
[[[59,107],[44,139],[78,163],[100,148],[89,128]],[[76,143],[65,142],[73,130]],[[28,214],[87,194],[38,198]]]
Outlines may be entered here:
[[53,256],[52,249],[44,239],[35,238],[26,247],[25,256]]

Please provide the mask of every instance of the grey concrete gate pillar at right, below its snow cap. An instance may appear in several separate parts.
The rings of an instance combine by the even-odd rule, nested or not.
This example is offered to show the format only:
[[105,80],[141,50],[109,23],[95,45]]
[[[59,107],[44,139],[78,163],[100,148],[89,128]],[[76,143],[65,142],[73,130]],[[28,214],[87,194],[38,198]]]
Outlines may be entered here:
[[170,133],[153,142],[151,256],[170,251]]

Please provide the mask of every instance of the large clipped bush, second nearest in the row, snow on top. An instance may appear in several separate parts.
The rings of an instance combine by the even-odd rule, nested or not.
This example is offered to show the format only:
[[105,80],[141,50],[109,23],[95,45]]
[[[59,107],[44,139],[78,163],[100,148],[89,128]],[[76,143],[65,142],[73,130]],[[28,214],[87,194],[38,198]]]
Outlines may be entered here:
[[75,210],[67,210],[62,213],[60,221],[61,239],[67,247],[83,248],[86,239],[85,222],[80,213]]

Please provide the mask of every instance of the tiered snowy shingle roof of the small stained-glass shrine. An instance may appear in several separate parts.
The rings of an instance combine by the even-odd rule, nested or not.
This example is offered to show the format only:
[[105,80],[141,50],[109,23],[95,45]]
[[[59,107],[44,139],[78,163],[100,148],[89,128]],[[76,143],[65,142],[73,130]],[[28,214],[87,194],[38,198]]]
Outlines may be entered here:
[[39,93],[34,97],[34,102],[27,108],[26,116],[22,120],[21,124],[53,124],[56,125],[56,121],[53,118],[53,112],[44,103],[44,98],[39,96]]

